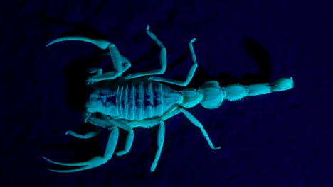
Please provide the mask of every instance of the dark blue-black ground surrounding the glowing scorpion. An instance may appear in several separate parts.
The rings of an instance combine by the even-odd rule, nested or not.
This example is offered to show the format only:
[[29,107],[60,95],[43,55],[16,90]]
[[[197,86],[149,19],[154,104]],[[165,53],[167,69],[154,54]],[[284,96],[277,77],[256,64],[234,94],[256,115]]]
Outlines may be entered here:
[[[329,1],[11,1],[1,3],[0,21],[0,186],[332,186]],[[81,118],[83,72],[112,66],[85,42],[44,46],[67,35],[102,38],[132,62],[127,73],[143,72],[159,68],[147,24],[167,49],[162,77],[185,79],[196,37],[199,68],[190,87],[293,77],[295,88],[190,108],[218,151],[184,115],[167,120],[154,173],[157,127],[135,129],[131,152],[96,169],[48,171],[59,167],[41,155],[82,162],[104,153],[106,130],[91,140],[65,132],[93,130]],[[120,132],[117,150],[126,135]]]

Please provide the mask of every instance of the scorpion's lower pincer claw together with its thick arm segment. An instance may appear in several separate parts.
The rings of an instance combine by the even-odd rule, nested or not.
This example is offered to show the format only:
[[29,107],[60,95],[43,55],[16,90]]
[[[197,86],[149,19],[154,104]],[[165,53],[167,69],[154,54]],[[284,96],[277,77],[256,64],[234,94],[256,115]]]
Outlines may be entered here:
[[52,162],[53,164],[58,164],[61,166],[80,166],[77,169],[70,169],[70,170],[50,169],[51,171],[60,172],[60,173],[76,172],[76,171],[83,171],[85,169],[95,168],[97,166],[105,164],[109,159],[111,159],[113,153],[115,152],[115,147],[117,145],[118,136],[119,136],[119,130],[117,127],[115,127],[115,128],[113,128],[113,130],[109,136],[109,140],[107,142],[107,147],[105,149],[104,157],[97,156],[88,162],[62,163],[62,162],[54,162],[50,159],[46,159],[46,157],[43,157],[43,158],[46,159],[48,162]]

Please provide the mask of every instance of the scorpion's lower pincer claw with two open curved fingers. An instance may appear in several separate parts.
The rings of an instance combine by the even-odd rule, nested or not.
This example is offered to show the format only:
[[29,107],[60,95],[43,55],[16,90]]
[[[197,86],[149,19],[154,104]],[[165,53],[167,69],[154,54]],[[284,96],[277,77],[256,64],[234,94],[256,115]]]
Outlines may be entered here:
[[60,165],[60,166],[81,166],[77,169],[69,169],[69,170],[49,169],[50,171],[55,171],[55,172],[60,172],[60,173],[83,171],[85,169],[95,168],[95,167],[100,166],[102,164],[105,164],[107,162],[106,159],[104,159],[103,157],[100,157],[100,156],[94,157],[93,159],[91,159],[90,161],[87,161],[87,162],[78,162],[78,163],[55,162],[51,159],[47,159],[46,157],[43,157],[43,159],[46,159],[48,162],[51,162],[53,164],[57,164],[57,165]]

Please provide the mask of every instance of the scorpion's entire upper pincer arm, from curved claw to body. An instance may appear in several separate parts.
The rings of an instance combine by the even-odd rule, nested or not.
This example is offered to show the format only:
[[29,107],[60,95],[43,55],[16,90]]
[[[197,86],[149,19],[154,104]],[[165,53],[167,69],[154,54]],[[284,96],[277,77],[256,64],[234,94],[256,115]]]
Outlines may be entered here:
[[102,69],[100,68],[90,69],[90,73],[97,72],[97,74],[93,77],[90,77],[90,79],[88,80],[88,84],[93,84],[94,82],[97,81],[112,80],[117,77],[120,77],[122,73],[125,72],[131,66],[129,60],[127,60],[126,57],[120,55],[119,51],[117,50],[117,47],[115,47],[114,44],[108,42],[107,40],[97,40],[80,36],[63,37],[53,40],[48,45],[46,45],[46,47],[48,47],[49,45],[53,45],[56,42],[63,42],[70,40],[90,42],[91,44],[96,45],[102,50],[105,50],[107,48],[110,50],[110,55],[115,71],[102,74]]

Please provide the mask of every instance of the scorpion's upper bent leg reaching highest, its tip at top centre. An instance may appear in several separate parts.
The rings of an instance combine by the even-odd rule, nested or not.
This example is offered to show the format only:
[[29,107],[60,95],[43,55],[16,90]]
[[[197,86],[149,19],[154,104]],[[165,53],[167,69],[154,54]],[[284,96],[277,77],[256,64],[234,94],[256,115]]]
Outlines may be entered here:
[[149,25],[147,25],[147,27],[146,27],[146,32],[150,36],[150,38],[152,38],[157,43],[157,45],[159,45],[159,47],[161,47],[161,52],[159,54],[159,62],[161,64],[161,69],[156,69],[156,70],[152,70],[152,71],[148,71],[148,72],[140,72],[140,73],[136,73],[136,74],[129,74],[129,75],[125,76],[124,79],[134,79],[137,77],[144,77],[144,76],[149,76],[149,75],[154,75],[154,74],[164,74],[164,72],[166,70],[166,48],[164,47],[162,42],[157,38],[157,36],[154,35],[154,33],[152,33],[149,30]]

